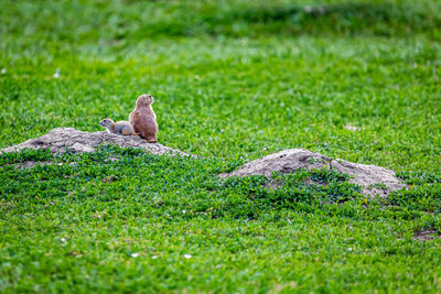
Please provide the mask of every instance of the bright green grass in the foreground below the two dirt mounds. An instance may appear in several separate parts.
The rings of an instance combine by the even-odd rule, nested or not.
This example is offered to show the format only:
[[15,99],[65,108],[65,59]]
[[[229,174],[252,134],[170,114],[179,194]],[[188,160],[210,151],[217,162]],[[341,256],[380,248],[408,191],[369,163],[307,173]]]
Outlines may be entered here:
[[[61,165],[14,167],[32,159]],[[411,237],[441,229],[439,216],[407,203],[385,209],[335,172],[300,171],[275,190],[263,185],[278,175],[219,179],[215,175],[234,165],[130,149],[56,157],[26,152],[2,155],[1,163],[7,291],[438,286],[439,242]]]

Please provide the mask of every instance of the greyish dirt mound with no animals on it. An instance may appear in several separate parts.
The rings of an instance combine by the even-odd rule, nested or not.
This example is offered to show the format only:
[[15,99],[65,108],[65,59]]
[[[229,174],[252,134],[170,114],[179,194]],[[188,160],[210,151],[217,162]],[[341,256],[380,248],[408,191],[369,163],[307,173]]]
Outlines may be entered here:
[[398,178],[394,171],[344,160],[334,160],[303,149],[281,151],[259,160],[248,162],[243,167],[222,177],[266,175],[272,172],[289,174],[299,168],[333,168],[352,176],[351,183],[362,185],[368,195],[387,196],[392,190],[398,190],[407,185]]

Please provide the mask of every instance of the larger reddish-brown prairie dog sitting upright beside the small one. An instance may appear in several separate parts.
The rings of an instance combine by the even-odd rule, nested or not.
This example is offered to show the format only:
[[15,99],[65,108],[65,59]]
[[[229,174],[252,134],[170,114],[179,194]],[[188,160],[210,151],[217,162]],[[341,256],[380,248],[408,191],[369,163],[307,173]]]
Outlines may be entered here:
[[151,95],[141,95],[137,99],[137,105],[129,116],[131,127],[142,139],[149,143],[158,142],[158,123],[152,104],[154,98]]

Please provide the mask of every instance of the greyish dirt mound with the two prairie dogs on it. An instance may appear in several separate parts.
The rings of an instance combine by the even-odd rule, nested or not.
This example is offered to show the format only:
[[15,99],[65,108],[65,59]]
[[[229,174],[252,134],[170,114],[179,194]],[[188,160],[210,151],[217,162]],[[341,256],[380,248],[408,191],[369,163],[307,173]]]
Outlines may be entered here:
[[22,151],[23,149],[51,149],[52,153],[64,153],[66,150],[93,152],[99,144],[117,144],[120,146],[142,148],[152,154],[189,155],[158,143],[148,143],[138,135],[118,135],[108,132],[83,132],[74,128],[56,128],[40,138],[28,140],[21,144],[2,149],[0,152]]

